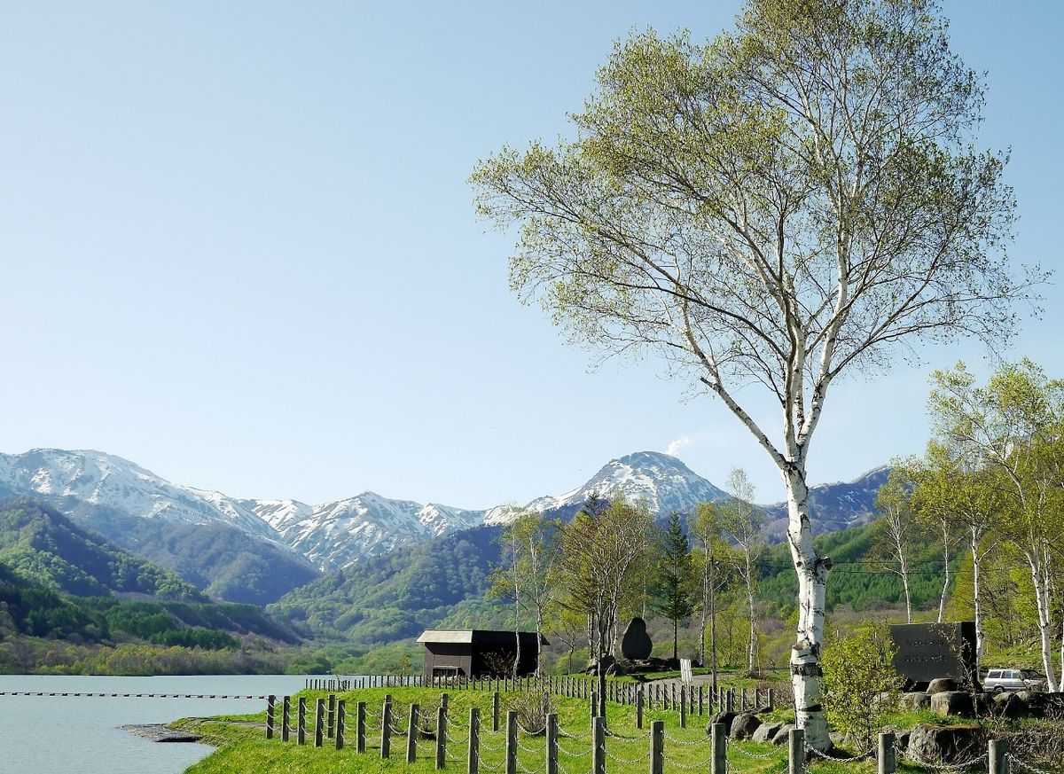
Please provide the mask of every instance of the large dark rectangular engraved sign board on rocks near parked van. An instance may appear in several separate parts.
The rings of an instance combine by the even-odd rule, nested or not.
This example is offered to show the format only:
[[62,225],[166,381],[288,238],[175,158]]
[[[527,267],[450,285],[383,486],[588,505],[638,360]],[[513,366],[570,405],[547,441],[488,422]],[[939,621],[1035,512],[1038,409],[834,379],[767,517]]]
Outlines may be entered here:
[[913,683],[952,677],[979,684],[976,673],[976,624],[910,623],[891,626],[894,668]]

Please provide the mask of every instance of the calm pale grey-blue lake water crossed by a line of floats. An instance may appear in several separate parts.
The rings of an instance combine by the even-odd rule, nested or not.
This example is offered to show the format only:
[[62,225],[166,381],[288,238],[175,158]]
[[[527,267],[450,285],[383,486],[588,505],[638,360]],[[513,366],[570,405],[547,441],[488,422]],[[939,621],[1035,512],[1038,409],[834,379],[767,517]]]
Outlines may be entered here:
[[[303,675],[179,677],[67,677],[0,675],[0,691],[82,693],[193,693],[277,696],[304,686]],[[213,747],[156,743],[120,725],[178,718],[257,712],[265,700],[0,696],[0,772],[3,774],[179,774]]]

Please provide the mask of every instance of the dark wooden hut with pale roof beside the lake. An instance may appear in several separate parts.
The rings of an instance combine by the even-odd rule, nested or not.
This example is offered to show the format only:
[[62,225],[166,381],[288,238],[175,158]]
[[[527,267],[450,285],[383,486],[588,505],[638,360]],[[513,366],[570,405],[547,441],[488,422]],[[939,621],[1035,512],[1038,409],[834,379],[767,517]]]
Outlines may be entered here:
[[[537,651],[535,632],[499,632],[494,629],[428,629],[417,638],[425,644],[425,673],[433,676],[502,677],[513,674],[517,655],[517,637],[521,642],[519,676],[533,674]],[[543,639],[543,644],[549,644]]]

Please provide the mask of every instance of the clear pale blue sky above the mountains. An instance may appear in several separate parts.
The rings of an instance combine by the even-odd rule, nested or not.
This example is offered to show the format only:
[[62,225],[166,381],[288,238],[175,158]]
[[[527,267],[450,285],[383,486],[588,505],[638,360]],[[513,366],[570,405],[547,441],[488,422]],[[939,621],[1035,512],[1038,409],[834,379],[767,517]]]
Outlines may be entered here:
[[[671,449],[782,498],[718,403],[653,361],[588,373],[520,306],[513,236],[485,233],[465,182],[503,142],[568,132],[615,38],[704,38],[737,7],[3,3],[0,451],[101,449],[237,497],[485,507]],[[1059,266],[1064,12],[946,11],[990,71],[983,144],[1013,150],[1012,252]],[[1064,375],[1064,293],[1046,295],[1010,354]],[[926,352],[959,355],[981,352]],[[835,389],[811,481],[918,452],[928,370]]]

